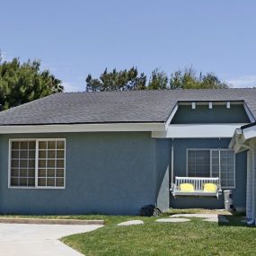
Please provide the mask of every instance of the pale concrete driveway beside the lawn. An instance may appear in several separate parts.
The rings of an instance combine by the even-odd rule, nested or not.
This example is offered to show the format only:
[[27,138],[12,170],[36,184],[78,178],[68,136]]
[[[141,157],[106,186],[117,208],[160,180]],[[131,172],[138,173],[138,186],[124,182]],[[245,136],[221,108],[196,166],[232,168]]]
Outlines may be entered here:
[[0,224],[0,255],[81,256],[57,239],[99,227],[102,225]]

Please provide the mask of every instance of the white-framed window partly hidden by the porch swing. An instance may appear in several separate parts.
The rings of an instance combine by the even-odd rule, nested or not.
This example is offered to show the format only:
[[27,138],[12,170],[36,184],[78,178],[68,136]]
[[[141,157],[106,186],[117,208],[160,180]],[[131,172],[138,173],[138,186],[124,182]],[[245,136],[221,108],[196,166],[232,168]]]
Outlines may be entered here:
[[235,188],[235,155],[229,149],[187,149],[187,176],[219,177],[222,188]]

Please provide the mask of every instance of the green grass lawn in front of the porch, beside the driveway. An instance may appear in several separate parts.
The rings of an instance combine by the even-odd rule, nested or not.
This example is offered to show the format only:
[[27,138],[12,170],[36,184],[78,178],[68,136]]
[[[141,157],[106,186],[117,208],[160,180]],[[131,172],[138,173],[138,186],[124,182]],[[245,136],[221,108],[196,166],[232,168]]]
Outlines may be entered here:
[[[256,255],[256,228],[243,225],[241,216],[218,225],[193,218],[187,223],[156,223],[157,217],[102,216],[104,227],[64,237],[62,242],[86,256],[94,255]],[[145,225],[117,226],[142,219]]]

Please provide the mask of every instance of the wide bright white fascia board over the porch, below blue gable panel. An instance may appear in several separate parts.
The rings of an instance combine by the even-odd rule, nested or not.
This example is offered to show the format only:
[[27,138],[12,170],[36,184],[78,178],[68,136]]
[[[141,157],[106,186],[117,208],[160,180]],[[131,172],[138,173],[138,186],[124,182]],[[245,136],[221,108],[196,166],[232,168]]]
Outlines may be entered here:
[[233,137],[234,130],[244,124],[177,124],[170,125],[166,132],[152,132],[152,137]]

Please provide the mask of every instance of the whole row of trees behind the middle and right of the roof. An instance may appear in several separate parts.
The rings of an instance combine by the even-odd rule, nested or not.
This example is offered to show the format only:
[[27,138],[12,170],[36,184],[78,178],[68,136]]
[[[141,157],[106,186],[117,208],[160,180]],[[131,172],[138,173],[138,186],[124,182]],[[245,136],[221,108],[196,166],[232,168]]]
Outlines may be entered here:
[[173,72],[170,78],[165,72],[155,68],[148,82],[144,73],[138,74],[137,67],[120,71],[113,69],[111,72],[106,68],[99,78],[93,78],[89,74],[85,81],[87,92],[229,88],[212,73],[200,73],[197,76],[193,67]]

